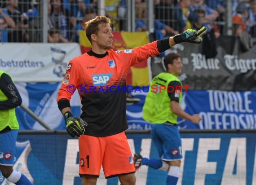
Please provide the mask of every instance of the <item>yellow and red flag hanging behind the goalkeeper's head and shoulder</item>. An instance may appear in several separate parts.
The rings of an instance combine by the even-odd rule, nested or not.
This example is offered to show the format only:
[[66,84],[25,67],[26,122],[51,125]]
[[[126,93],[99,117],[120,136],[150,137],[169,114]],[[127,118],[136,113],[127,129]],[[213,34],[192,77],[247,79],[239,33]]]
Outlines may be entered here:
[[[131,49],[149,43],[147,32],[114,32],[113,35],[114,50]],[[82,30],[79,30],[79,43],[82,53],[88,52],[92,47],[85,31]],[[126,80],[127,85],[141,87],[147,86],[149,83],[147,60],[130,67]]]

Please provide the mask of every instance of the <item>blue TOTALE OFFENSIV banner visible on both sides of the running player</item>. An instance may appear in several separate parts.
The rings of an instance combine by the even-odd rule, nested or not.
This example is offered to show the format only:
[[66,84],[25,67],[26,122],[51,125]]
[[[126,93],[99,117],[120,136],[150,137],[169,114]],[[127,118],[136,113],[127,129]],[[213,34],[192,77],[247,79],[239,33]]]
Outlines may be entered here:
[[[146,93],[132,93],[141,99],[127,106],[129,129],[150,129],[142,118]],[[183,92],[181,108],[190,115],[199,114],[202,120],[195,125],[178,118],[179,129],[256,129],[255,91],[190,91]]]

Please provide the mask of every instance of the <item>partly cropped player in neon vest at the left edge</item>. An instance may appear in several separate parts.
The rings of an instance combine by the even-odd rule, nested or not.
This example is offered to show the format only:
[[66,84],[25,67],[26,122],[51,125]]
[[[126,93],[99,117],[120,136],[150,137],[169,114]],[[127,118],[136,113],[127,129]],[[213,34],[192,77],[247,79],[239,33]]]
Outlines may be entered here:
[[19,129],[15,107],[21,103],[22,98],[12,77],[0,70],[0,171],[16,185],[32,185],[26,176],[13,170]]

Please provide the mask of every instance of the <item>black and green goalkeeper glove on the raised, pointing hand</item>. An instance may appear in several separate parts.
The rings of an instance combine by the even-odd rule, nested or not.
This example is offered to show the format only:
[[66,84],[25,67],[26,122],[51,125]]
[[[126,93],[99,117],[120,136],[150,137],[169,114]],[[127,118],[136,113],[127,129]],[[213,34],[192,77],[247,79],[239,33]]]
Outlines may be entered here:
[[190,42],[200,44],[203,41],[202,35],[207,32],[207,27],[203,26],[199,31],[188,29],[181,34],[175,35],[173,40],[176,44],[181,42]]

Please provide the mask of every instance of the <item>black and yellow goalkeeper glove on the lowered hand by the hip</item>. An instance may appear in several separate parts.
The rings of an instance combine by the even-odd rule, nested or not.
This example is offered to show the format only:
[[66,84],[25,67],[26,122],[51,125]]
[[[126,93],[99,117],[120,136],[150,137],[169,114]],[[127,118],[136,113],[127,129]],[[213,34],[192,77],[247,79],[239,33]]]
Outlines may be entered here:
[[64,114],[64,119],[66,123],[66,131],[71,137],[79,137],[84,134],[85,127],[88,125],[83,119],[79,117],[73,117],[71,112],[66,112]]

